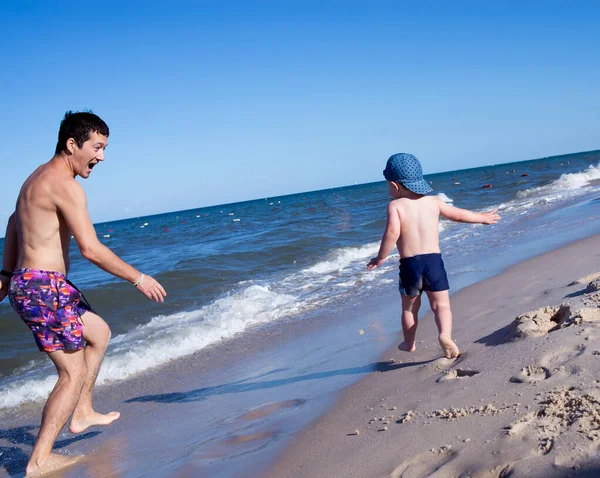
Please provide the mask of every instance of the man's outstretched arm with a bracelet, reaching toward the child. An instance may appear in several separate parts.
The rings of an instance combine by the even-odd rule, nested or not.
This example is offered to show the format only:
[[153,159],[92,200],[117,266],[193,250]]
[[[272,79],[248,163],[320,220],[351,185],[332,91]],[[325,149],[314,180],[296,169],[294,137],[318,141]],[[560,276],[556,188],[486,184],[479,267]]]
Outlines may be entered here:
[[57,196],[58,209],[67,222],[81,255],[109,274],[136,285],[148,299],[163,302],[167,294],[156,280],[127,264],[98,240],[81,185],[73,180],[61,187],[62,193]]

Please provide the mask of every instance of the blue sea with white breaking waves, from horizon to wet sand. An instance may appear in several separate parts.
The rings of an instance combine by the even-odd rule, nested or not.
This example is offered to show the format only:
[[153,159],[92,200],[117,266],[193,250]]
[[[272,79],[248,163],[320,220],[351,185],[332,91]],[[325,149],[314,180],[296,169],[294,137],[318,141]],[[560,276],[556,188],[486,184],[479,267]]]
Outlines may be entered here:
[[[492,226],[440,223],[451,287],[598,232],[599,168],[594,151],[427,175],[444,201],[502,216]],[[397,287],[397,255],[365,269],[388,201],[382,181],[96,224],[104,244],[168,293],[164,304],[149,302],[73,244],[69,278],[113,331],[98,384]],[[8,300],[0,303],[0,410],[43,400],[54,380]]]

